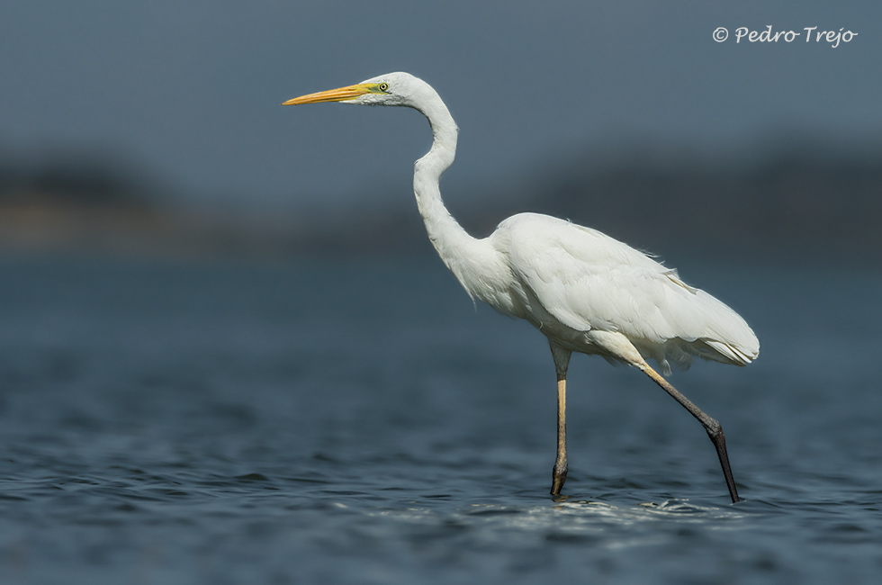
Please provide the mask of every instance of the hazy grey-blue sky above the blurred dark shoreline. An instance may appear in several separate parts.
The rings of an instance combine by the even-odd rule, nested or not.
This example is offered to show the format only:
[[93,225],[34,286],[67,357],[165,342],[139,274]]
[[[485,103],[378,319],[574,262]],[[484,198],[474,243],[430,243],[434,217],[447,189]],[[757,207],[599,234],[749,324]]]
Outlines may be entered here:
[[[769,24],[801,36],[735,42]],[[815,41],[841,28],[858,36]],[[461,128],[446,192],[609,143],[878,138],[880,36],[878,0],[8,0],[0,154],[112,156],[203,204],[410,196],[419,114],[279,105],[396,70],[434,85]]]

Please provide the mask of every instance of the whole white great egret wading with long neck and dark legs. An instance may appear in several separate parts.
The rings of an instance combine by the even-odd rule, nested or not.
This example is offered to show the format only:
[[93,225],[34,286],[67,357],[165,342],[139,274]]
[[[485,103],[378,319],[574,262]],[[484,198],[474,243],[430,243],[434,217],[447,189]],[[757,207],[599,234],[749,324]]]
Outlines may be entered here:
[[488,238],[470,236],[441,201],[438,182],[454,162],[458,130],[425,81],[390,73],[283,105],[320,102],[408,106],[428,118],[434,141],[414,164],[413,174],[428,238],[472,298],[529,321],[551,346],[558,404],[552,494],[560,494],[567,476],[566,373],[575,351],[635,366],[689,410],[716,446],[729,495],[738,501],[723,428],[646,363],[653,358],[665,375],[671,374],[671,362],[685,369],[692,356],[751,363],[759,356],[760,342],[737,313],[685,284],[676,270],[569,221],[519,213],[502,221]]

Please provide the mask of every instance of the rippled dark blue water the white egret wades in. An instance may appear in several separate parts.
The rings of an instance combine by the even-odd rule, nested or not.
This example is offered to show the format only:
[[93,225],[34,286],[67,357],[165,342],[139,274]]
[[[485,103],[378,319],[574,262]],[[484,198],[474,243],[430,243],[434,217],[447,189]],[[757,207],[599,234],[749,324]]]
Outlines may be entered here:
[[419,262],[0,263],[0,582],[877,582],[882,276],[680,268],[748,368],[574,357]]

